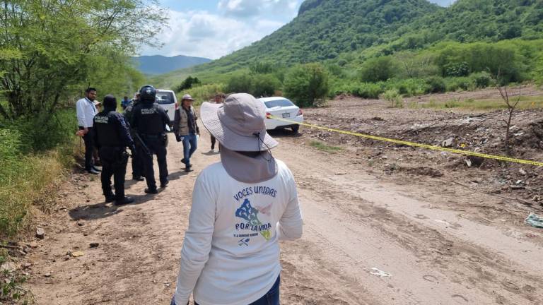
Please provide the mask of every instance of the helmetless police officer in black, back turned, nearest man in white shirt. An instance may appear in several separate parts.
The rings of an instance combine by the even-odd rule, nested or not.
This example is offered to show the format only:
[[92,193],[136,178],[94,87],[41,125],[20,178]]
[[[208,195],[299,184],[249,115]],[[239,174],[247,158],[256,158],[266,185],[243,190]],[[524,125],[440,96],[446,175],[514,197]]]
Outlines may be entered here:
[[[116,205],[132,203],[133,198],[124,196],[124,175],[129,157],[127,147],[134,154],[134,141],[124,116],[115,111],[117,100],[113,95],[104,97],[103,107],[103,111],[94,117],[94,140],[102,160],[101,180],[105,202],[115,201]],[[111,190],[112,176],[115,194]]]

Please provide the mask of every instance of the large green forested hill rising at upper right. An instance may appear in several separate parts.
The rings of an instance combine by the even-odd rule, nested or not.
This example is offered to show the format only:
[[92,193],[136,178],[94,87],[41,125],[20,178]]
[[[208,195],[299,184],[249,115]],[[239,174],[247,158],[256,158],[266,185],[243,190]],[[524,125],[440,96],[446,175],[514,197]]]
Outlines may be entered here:
[[498,42],[543,37],[542,0],[306,0],[291,23],[209,64],[156,78],[173,85],[190,75],[226,82],[255,62],[325,62],[351,70],[370,58],[421,52],[440,42]]

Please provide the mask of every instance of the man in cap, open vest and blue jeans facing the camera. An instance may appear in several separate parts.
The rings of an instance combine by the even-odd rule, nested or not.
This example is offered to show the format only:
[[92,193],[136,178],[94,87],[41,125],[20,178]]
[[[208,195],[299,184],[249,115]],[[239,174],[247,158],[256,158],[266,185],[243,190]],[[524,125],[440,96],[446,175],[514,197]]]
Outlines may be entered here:
[[185,172],[191,172],[192,165],[190,157],[197,148],[197,136],[200,135],[198,128],[196,112],[192,107],[194,99],[190,95],[183,95],[181,107],[175,110],[173,132],[178,142],[183,142],[183,159],[185,163]]

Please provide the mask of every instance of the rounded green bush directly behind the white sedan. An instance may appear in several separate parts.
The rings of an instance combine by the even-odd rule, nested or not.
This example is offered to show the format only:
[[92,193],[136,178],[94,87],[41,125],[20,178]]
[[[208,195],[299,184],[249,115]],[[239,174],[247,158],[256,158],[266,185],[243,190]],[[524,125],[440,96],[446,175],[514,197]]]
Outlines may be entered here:
[[328,72],[321,64],[302,64],[291,68],[284,91],[300,107],[314,106],[328,93]]

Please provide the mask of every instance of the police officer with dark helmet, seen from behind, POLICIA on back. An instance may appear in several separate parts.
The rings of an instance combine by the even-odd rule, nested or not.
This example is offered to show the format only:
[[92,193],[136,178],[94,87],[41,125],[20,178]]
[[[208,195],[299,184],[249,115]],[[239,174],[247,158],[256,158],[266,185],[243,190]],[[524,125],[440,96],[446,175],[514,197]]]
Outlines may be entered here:
[[166,164],[166,125],[171,125],[165,110],[155,103],[156,90],[151,85],[145,85],[139,90],[140,104],[134,107],[132,127],[136,129],[139,143],[138,153],[144,163],[144,174],[147,182],[146,193],[158,193],[156,189],[155,171],[153,169],[153,154],[158,161],[160,187],[168,185],[168,165]]

